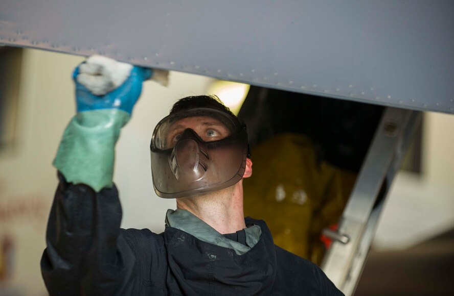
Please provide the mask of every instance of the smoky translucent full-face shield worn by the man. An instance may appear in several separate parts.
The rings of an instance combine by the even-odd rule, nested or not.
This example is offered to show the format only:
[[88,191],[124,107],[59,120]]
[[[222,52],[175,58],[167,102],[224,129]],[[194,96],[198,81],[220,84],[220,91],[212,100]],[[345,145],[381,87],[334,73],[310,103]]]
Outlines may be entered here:
[[211,108],[174,113],[151,138],[156,194],[181,198],[232,186],[243,178],[247,134],[238,119]]

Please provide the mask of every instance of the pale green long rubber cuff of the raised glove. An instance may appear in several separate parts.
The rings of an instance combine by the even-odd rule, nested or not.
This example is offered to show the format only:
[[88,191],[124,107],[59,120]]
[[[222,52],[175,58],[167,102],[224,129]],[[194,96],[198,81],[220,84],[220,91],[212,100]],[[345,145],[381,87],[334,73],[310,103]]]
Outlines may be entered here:
[[118,109],[77,113],[63,133],[53,165],[68,182],[99,192],[113,185],[115,143],[130,115]]

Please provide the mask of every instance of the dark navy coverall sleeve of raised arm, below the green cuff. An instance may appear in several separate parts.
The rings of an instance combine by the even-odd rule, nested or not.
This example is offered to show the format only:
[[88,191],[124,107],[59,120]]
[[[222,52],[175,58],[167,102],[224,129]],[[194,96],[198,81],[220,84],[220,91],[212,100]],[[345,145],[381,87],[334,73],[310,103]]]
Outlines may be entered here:
[[134,295],[139,280],[135,234],[120,229],[122,209],[115,185],[96,192],[60,183],[41,258],[51,295]]

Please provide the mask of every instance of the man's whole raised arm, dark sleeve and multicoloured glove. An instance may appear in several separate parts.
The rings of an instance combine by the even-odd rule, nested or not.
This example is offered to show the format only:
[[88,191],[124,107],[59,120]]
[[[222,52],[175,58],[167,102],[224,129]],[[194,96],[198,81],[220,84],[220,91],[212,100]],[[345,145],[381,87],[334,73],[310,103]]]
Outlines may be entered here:
[[77,114],[54,166],[60,183],[41,259],[51,295],[135,294],[134,232],[120,230],[121,205],[112,183],[115,143],[151,69],[103,57],[74,71]]

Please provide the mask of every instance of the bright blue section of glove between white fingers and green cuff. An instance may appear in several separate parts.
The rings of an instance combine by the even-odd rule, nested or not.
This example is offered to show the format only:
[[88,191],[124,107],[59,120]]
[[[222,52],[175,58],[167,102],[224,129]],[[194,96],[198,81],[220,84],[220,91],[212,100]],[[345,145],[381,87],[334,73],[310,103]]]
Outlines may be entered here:
[[73,73],[73,79],[76,84],[77,112],[119,109],[131,114],[132,108],[139,100],[142,82],[151,78],[153,70],[134,66],[126,81],[105,95],[94,95],[77,81],[78,75],[79,67]]

